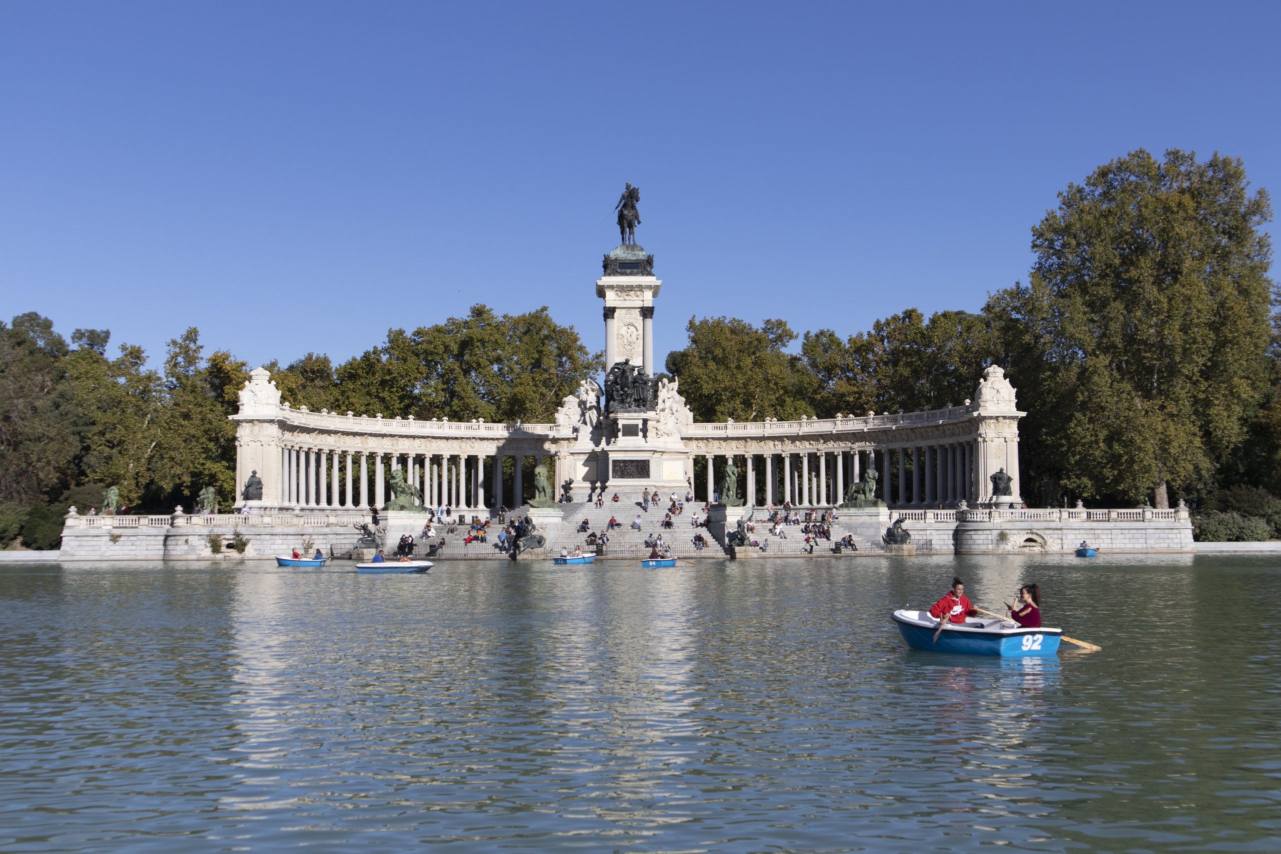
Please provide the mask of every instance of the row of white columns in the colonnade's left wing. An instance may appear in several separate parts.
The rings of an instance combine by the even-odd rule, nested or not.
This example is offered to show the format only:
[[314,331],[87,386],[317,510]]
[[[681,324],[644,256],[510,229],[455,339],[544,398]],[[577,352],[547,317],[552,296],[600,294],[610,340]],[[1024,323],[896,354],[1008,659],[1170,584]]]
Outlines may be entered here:
[[[383,507],[391,492],[391,472],[402,470],[405,480],[423,493],[428,507],[479,510],[503,502],[503,455],[421,455],[359,451],[327,451],[284,447],[281,451],[279,501],[301,507]],[[524,455],[511,455],[516,506],[524,504]],[[535,462],[542,457],[534,457]],[[489,480],[485,480],[485,467]],[[498,497],[498,501],[487,501]]]

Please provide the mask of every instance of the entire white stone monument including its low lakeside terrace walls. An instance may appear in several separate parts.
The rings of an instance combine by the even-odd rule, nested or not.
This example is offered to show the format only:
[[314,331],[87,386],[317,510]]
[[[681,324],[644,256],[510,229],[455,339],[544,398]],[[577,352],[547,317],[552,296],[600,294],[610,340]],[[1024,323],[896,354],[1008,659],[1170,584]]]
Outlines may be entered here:
[[[790,504],[835,510],[834,535],[852,534],[863,553],[895,544],[881,536],[890,522],[898,522],[895,540],[907,530],[906,539],[931,551],[1065,552],[1081,539],[1112,551],[1193,548],[1184,508],[1022,508],[1024,414],[995,365],[975,378],[974,399],[939,410],[696,423],[680,396],[680,378],[653,379],[662,282],[655,256],[635,242],[639,204],[639,188],[628,184],[616,205],[621,242],[605,255],[596,280],[608,366],[603,387],[584,382],[551,424],[310,412],[282,401],[259,367],[232,416],[237,493],[246,513],[196,517],[177,508],[172,517],[140,522],[136,539],[124,540],[132,545],[120,545],[120,525],[132,522],[105,522],[114,526],[106,545],[94,535],[109,517],[73,513],[64,560],[199,558],[202,547],[190,536],[192,525],[214,533],[222,525],[228,535],[252,529],[250,552],[259,556],[288,551],[300,531],[342,554],[356,539],[352,524],[370,521],[371,507],[382,511],[382,534],[395,542],[401,533],[419,533],[427,506],[450,507],[469,520],[505,506],[535,520],[547,548],[559,549],[582,543],[573,526],[592,513],[584,502],[605,495],[606,517],[612,511],[626,524],[644,489],[664,497],[693,490],[698,501],[714,503],[708,528],[721,547],[744,515],[760,521],[766,508]],[[696,484],[699,456],[706,475]],[[503,476],[503,457],[514,458],[514,476]],[[530,483],[524,479],[526,457],[534,463]],[[621,503],[612,502],[615,494]],[[591,526],[603,528],[601,521]],[[775,540],[770,554],[780,547],[799,552],[799,540]],[[497,554],[492,544],[469,548],[469,557],[473,549]]]

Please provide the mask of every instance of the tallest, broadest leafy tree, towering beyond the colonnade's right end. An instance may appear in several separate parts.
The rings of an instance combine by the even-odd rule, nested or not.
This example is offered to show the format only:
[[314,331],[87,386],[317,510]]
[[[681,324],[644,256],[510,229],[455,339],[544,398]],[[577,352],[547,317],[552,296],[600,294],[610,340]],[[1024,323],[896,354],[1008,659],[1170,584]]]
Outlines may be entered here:
[[1166,507],[1168,485],[1213,478],[1267,391],[1267,192],[1239,159],[1139,150],[1058,198],[1029,283],[985,309],[1025,458],[1077,494]]

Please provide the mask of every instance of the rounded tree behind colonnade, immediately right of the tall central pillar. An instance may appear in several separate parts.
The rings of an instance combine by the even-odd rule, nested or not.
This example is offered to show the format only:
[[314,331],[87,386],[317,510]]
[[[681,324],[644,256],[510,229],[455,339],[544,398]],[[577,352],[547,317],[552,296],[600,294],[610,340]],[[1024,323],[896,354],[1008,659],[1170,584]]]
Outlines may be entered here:
[[689,343],[667,355],[667,373],[701,421],[797,419],[813,415],[816,383],[804,361],[787,352],[796,333],[783,320],[760,328],[738,318],[696,318]]

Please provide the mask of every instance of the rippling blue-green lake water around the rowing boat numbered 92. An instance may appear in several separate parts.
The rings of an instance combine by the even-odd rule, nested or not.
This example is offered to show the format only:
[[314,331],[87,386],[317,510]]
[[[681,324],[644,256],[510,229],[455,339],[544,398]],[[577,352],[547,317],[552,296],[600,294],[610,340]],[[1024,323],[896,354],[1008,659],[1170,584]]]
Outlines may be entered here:
[[0,850],[1276,851],[1278,565],[0,565]]

